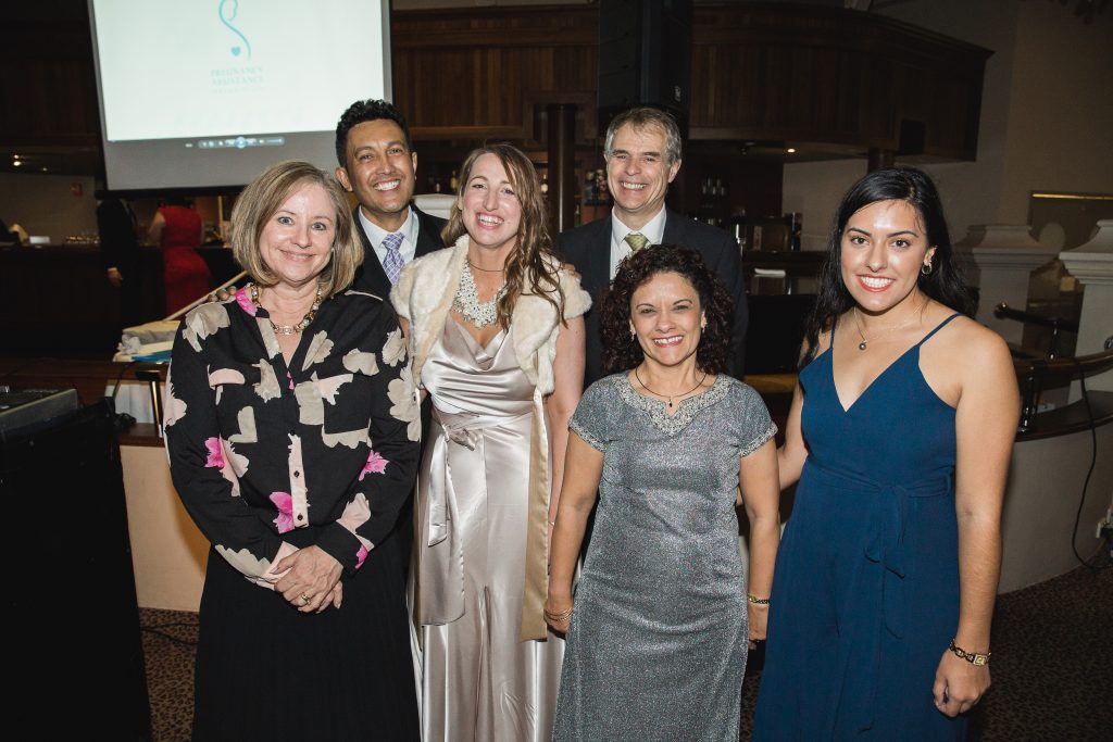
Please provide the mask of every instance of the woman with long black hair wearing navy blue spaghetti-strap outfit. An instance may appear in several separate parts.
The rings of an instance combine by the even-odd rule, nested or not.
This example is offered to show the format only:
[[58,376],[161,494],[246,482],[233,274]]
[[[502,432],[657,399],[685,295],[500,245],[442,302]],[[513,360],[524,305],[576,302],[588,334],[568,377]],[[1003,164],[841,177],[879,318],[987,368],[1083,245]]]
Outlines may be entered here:
[[755,740],[961,740],[989,685],[1001,506],[1020,399],[971,319],[932,180],[843,199],[779,452]]

